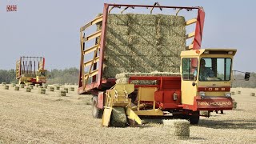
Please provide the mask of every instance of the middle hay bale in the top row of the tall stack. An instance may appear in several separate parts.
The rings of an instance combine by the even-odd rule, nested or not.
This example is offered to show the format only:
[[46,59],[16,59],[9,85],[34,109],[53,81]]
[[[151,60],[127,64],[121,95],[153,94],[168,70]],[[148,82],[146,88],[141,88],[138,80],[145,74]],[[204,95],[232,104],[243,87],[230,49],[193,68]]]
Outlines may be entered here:
[[128,24],[137,24],[142,26],[156,26],[158,15],[154,14],[126,14],[129,17]]

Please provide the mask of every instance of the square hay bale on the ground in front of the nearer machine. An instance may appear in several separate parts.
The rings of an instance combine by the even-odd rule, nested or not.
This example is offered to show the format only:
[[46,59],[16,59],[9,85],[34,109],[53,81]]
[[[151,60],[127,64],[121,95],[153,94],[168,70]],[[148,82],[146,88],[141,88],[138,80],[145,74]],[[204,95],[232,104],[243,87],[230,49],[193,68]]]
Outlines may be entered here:
[[163,120],[163,124],[168,129],[174,129],[173,134],[178,138],[190,137],[190,122],[188,122],[187,120],[184,120],[184,119]]

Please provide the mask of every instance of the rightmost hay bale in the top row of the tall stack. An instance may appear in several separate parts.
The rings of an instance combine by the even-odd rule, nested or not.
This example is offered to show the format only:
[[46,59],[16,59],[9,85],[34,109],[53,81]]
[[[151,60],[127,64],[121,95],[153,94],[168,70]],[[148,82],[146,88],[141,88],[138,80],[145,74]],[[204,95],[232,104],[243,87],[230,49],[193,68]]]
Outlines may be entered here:
[[185,26],[186,21],[183,16],[175,16],[175,15],[166,15],[166,14],[158,14],[158,25],[165,26]]

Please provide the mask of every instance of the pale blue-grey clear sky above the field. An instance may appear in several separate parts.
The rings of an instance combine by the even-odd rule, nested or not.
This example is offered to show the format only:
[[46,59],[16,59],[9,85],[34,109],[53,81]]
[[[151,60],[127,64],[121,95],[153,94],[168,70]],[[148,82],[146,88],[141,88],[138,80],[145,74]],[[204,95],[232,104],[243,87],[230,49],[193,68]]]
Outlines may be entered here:
[[[1,0],[0,69],[14,69],[20,56],[43,56],[46,69],[78,67],[79,28],[98,13],[103,3],[151,5],[156,1]],[[234,69],[256,71],[256,16],[251,0],[158,0],[162,6],[203,6],[206,21],[202,48],[235,48]],[[6,12],[17,5],[17,12]]]

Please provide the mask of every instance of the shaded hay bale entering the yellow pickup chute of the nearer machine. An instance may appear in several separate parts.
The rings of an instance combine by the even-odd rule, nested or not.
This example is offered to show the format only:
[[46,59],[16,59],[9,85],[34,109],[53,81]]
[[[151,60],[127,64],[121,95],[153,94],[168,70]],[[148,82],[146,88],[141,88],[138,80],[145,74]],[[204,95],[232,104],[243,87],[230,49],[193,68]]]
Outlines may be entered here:
[[124,107],[113,107],[110,117],[110,126],[124,127],[127,124],[126,112]]

